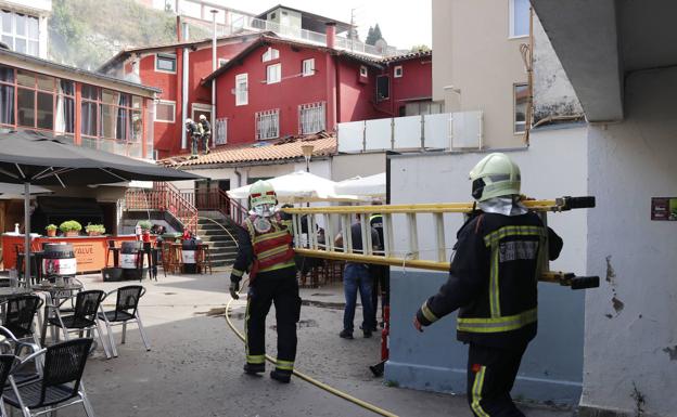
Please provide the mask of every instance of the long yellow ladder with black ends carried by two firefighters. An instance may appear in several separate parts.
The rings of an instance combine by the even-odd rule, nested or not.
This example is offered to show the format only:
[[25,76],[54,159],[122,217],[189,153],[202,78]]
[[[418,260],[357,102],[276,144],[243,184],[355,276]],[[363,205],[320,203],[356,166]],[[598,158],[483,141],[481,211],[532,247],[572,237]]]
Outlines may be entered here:
[[[595,207],[595,197],[562,197],[552,200],[525,200],[523,204],[538,213],[547,225],[549,212],[562,212],[572,209]],[[417,205],[384,205],[384,206],[332,206],[332,207],[303,207],[284,208],[282,211],[292,214],[294,229],[294,249],[296,253],[333,260],[344,260],[359,263],[375,263],[432,271],[449,271],[450,263],[447,258],[445,244],[445,213],[469,214],[475,209],[474,203],[456,204],[417,204]],[[362,219],[369,219],[371,214],[383,217],[383,250],[373,250],[369,221],[360,222],[362,227],[363,250],[353,250],[350,224],[354,214],[361,214]],[[405,250],[395,249],[394,217],[404,216],[407,224],[407,243]],[[432,216],[434,230],[434,247],[422,249],[419,247],[420,231],[418,226],[419,216]],[[324,224],[324,244],[318,239],[318,218]],[[338,221],[336,221],[338,218]],[[306,222],[306,224],[303,224]],[[340,224],[335,230],[335,225]],[[302,234],[301,231],[309,233]],[[334,246],[337,233],[343,236],[343,247]],[[426,232],[427,233],[427,232]],[[432,253],[424,257],[425,253]],[[540,281],[559,283],[570,286],[572,289],[585,289],[599,287],[598,276],[576,276],[571,272],[550,271],[547,250],[541,251],[542,272]]]

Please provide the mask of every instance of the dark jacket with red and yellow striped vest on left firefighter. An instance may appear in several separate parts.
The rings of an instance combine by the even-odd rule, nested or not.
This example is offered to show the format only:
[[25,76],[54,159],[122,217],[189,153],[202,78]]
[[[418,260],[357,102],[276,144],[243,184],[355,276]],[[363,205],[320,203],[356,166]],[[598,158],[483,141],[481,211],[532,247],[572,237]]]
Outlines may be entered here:
[[257,273],[294,266],[291,224],[279,213],[269,218],[252,214],[238,227],[238,258],[230,275],[239,282],[245,272],[253,281]]

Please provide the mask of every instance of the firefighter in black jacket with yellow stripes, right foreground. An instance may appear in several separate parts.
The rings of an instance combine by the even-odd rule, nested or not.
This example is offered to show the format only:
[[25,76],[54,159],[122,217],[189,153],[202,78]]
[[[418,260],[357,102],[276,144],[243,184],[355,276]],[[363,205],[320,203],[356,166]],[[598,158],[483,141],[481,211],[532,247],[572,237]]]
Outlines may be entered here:
[[524,416],[510,390],[536,336],[541,255],[557,259],[562,239],[521,204],[520,168],[507,155],[486,156],[470,179],[477,210],[457,234],[449,279],[419,309],[413,325],[423,331],[460,309],[457,339],[469,344],[473,414]]

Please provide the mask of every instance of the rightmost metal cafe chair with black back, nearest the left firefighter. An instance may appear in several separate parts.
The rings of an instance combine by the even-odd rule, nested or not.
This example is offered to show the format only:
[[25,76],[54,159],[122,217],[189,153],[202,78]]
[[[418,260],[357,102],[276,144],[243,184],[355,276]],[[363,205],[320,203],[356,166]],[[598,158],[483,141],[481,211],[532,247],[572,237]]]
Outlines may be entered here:
[[123,325],[123,343],[125,343],[127,335],[127,323],[136,322],[141,334],[141,340],[145,346],[145,350],[151,350],[151,344],[148,341],[143,324],[141,323],[141,316],[139,315],[139,299],[145,294],[145,288],[140,285],[128,285],[119,287],[106,295],[106,297],[113,292],[117,292],[117,300],[115,301],[115,310],[103,311],[99,313],[99,318],[103,320],[106,326],[106,333],[108,334],[108,341],[111,342],[111,350],[113,356],[117,357],[117,349],[115,348],[115,340],[113,339],[112,326]]

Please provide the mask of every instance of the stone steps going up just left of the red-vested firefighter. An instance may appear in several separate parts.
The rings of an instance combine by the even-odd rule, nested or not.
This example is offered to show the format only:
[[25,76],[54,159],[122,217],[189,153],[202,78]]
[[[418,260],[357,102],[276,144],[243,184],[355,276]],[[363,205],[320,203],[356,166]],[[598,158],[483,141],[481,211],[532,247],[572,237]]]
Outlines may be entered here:
[[[205,214],[205,216],[203,216]],[[223,229],[228,230],[226,232]],[[208,243],[212,255],[212,266],[230,266],[238,257],[238,245],[231,237],[237,237],[235,226],[222,216],[213,212],[200,213],[197,219],[197,236]]]

